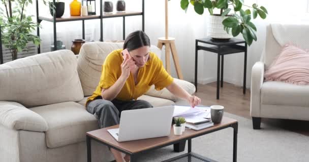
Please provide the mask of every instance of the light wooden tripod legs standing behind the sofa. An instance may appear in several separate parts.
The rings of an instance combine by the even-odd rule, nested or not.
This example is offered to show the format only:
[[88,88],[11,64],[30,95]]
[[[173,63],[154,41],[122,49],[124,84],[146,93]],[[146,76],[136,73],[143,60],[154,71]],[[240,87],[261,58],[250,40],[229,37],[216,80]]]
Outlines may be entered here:
[[166,65],[166,71],[170,74],[171,73],[171,63],[170,63],[170,50],[172,52],[177,76],[179,79],[183,79],[180,65],[179,65],[179,59],[177,55],[177,51],[175,48],[175,38],[168,37],[167,39],[165,37],[159,37],[158,41],[158,48],[162,50],[163,45],[165,45],[165,65]]

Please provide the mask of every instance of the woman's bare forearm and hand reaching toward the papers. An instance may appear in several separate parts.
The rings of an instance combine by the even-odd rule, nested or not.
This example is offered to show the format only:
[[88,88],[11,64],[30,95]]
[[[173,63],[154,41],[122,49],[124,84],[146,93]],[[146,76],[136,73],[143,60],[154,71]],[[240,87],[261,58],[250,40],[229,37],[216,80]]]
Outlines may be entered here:
[[195,106],[197,106],[201,103],[200,98],[190,95],[187,91],[182,89],[175,82],[173,82],[171,85],[167,86],[166,89],[169,90],[176,97],[187,100],[192,107],[195,107]]

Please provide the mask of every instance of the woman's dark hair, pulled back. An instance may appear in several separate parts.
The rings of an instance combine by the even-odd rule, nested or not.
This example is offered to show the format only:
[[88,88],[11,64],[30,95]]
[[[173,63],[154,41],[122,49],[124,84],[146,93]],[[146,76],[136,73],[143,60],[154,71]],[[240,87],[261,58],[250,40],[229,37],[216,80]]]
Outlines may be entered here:
[[133,51],[143,46],[150,47],[150,39],[144,31],[137,30],[127,36],[123,49]]

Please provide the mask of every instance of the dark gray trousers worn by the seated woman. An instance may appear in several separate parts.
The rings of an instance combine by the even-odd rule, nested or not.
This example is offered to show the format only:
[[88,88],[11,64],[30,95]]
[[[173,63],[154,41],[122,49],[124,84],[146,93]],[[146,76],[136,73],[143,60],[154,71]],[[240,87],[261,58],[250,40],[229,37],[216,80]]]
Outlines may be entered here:
[[123,110],[133,110],[153,107],[149,102],[144,100],[112,101],[96,99],[87,103],[86,110],[98,117],[99,128],[118,125],[120,114]]

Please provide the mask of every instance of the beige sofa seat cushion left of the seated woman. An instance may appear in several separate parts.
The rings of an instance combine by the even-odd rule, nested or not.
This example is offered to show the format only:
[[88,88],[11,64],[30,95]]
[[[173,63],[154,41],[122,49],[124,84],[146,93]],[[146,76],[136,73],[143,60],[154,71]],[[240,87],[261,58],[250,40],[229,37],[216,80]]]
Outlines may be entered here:
[[48,124],[46,144],[49,148],[85,141],[86,132],[98,129],[97,118],[76,102],[63,102],[30,108]]

